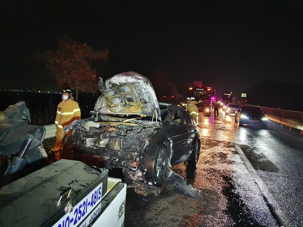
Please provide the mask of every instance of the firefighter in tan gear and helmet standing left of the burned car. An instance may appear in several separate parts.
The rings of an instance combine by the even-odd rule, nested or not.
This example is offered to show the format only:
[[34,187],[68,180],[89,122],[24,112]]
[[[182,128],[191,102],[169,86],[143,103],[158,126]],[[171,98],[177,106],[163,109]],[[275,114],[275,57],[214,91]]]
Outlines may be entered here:
[[60,159],[60,154],[65,138],[64,127],[71,124],[73,121],[81,118],[79,105],[73,99],[73,93],[70,89],[62,89],[62,101],[58,104],[55,124],[57,127],[56,143],[54,146],[55,157]]

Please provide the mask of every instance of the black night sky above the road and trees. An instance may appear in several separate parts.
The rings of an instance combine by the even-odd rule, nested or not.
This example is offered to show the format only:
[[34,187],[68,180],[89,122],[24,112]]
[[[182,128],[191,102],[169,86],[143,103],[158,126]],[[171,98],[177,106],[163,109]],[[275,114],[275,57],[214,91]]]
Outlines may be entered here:
[[63,35],[110,50],[96,66],[104,79],[162,72],[235,93],[268,79],[303,84],[303,1],[7,0],[0,32],[0,89],[59,89],[33,54]]

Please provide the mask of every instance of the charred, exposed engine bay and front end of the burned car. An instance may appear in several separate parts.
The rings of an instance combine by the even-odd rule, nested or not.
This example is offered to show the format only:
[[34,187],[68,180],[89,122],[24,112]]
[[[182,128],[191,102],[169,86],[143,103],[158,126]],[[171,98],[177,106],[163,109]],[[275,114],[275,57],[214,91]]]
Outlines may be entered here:
[[[128,119],[122,119],[128,121]],[[132,120],[137,121],[137,120]],[[143,152],[161,124],[146,125],[130,122],[94,122],[79,120],[70,125],[72,138],[67,137],[65,158],[82,160],[97,167],[122,167],[131,180],[144,180]],[[88,161],[89,160],[89,161]]]

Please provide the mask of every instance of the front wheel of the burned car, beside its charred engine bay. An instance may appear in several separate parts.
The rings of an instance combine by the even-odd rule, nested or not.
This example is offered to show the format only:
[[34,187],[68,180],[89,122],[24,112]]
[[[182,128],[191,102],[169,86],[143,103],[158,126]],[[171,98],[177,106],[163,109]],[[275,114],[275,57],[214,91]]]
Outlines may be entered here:
[[161,147],[156,144],[151,145],[143,157],[145,177],[156,185],[161,185],[167,171],[167,159],[167,150],[164,145]]

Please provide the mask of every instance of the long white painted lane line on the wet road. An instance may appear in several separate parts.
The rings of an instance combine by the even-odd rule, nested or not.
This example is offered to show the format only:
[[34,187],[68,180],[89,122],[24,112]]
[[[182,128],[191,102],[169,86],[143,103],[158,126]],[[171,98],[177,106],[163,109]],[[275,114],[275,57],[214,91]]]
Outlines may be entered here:
[[[275,209],[273,207],[273,204],[277,204],[276,200],[272,196],[272,194],[268,191],[267,187],[264,185],[263,181],[261,178],[258,176],[256,169],[251,165],[249,160],[247,159],[246,155],[243,153],[242,149],[240,148],[239,145],[234,144],[234,147],[236,148],[238,154],[242,158],[244,165],[246,166],[248,172],[250,175],[255,179],[255,182],[258,186],[258,188],[261,191],[261,194],[263,195],[263,198],[265,202],[267,203],[270,211],[272,212],[274,218],[277,220],[279,225],[290,225],[290,221],[287,219],[287,216],[285,215],[284,212],[282,212],[282,209],[278,207]],[[283,223],[283,224],[282,224]]]

